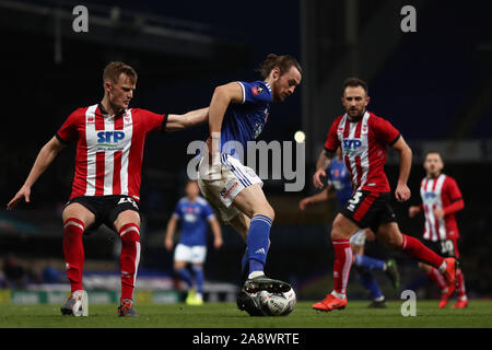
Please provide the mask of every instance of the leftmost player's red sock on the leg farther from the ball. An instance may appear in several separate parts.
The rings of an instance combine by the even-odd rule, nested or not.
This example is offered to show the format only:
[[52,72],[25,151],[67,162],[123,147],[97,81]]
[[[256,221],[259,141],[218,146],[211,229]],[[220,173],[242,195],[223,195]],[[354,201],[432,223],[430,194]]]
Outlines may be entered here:
[[63,226],[63,255],[67,262],[67,277],[71,291],[82,289],[82,270],[84,266],[84,245],[82,234],[84,223],[75,218],[69,218]]

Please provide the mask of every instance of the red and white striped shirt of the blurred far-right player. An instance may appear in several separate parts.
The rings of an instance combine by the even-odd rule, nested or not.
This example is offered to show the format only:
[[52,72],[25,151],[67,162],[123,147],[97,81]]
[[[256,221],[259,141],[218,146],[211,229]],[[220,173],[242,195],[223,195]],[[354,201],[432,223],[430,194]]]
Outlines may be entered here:
[[[424,177],[420,184],[421,209],[425,213],[423,237],[429,241],[458,238],[455,212],[464,208],[461,191],[456,180],[447,175]],[[444,210],[444,218],[434,215],[435,209]]]

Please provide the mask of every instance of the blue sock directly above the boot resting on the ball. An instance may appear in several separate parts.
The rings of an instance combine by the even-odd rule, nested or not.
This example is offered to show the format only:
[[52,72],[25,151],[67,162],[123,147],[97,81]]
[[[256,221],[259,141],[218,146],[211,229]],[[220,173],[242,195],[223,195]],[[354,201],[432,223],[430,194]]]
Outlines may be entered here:
[[261,214],[254,215],[249,223],[247,238],[249,273],[263,271],[267,262],[270,228],[271,219]]

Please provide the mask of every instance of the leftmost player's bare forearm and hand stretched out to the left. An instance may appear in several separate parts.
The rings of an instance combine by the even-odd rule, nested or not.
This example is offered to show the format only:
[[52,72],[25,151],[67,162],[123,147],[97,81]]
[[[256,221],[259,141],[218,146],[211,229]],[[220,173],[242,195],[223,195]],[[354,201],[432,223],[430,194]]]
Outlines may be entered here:
[[15,208],[19,202],[24,199],[27,203],[31,201],[31,188],[34,183],[39,178],[39,176],[46,171],[46,168],[51,164],[51,162],[65,148],[56,137],[52,137],[39,151],[33,167],[31,168],[30,175],[27,176],[24,185],[17,191],[17,194],[12,198],[12,200],[7,205],[7,209],[11,210]]

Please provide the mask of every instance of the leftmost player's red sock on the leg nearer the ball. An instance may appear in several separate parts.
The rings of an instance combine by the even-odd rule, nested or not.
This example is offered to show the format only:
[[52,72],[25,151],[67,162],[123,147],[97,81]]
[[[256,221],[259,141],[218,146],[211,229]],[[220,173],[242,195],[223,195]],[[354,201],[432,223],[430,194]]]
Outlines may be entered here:
[[121,255],[119,257],[121,299],[132,300],[140,260],[140,229],[134,223],[128,223],[119,230],[119,235],[121,236]]

